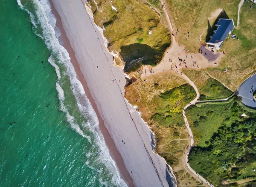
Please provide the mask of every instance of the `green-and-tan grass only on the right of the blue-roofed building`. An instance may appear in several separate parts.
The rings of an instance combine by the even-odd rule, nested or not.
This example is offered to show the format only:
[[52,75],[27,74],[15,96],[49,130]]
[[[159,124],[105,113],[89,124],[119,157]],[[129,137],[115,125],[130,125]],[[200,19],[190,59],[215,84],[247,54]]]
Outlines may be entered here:
[[[222,50],[227,55],[218,68],[208,70],[211,75],[233,89],[256,70],[256,22],[253,17],[256,17],[256,7],[250,9],[250,3],[245,2],[240,10],[239,27],[233,30],[239,40],[225,41]],[[228,69],[227,74],[223,69]]]

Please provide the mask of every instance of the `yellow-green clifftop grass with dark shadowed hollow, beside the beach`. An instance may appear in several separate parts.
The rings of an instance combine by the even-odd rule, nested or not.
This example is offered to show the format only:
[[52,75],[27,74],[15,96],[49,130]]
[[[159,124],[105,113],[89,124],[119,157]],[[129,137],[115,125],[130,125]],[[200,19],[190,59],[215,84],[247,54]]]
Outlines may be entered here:
[[125,71],[140,64],[157,64],[170,33],[154,10],[138,0],[89,0],[94,22],[104,28],[108,48],[119,52]]

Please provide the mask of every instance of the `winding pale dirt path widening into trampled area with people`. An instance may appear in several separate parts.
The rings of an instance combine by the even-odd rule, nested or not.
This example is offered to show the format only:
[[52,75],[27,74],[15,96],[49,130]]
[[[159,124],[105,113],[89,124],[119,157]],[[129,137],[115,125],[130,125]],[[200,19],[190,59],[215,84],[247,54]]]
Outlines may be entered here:
[[[192,134],[191,128],[189,127],[189,123],[186,118],[186,109],[189,106],[191,106],[192,104],[195,104],[195,102],[200,97],[200,94],[199,94],[198,88],[195,86],[195,83],[193,83],[186,75],[184,75],[180,71],[180,69],[182,69],[185,65],[187,68],[189,67],[189,68],[195,68],[195,69],[199,69],[199,66],[200,66],[200,68],[214,66],[214,62],[217,63],[221,59],[222,56],[220,55],[219,58],[217,58],[214,62],[209,63],[209,61],[207,60],[207,58],[204,57],[204,55],[201,55],[199,53],[198,54],[186,53],[184,50],[184,47],[179,46],[175,39],[175,35],[177,34],[176,33],[177,29],[175,28],[175,23],[170,14],[166,0],[160,0],[160,1],[161,1],[161,4],[163,5],[163,11],[166,15],[166,19],[168,22],[170,32],[171,33],[173,32],[174,35],[172,35],[171,47],[166,50],[166,53],[164,55],[162,62],[160,64],[158,64],[156,67],[154,67],[153,71],[155,74],[155,73],[159,73],[159,72],[163,72],[163,71],[165,72],[168,69],[172,69],[174,71],[176,70],[176,72],[178,74],[180,74],[186,81],[188,81],[188,83],[195,89],[195,92],[197,94],[196,98],[193,101],[191,101],[188,105],[186,105],[182,112],[186,127],[189,132],[189,137],[190,137],[189,138],[189,149],[187,149],[185,151],[182,162],[183,162],[183,166],[186,169],[186,171],[190,175],[192,175],[195,179],[197,179],[200,182],[203,182],[204,186],[206,186],[206,187],[214,187],[212,184],[209,184],[208,181],[206,179],[204,179],[201,175],[198,175],[194,170],[192,170],[192,168],[189,166],[188,155],[189,155],[189,151],[191,150],[192,146],[194,146],[194,139],[193,139],[193,134]],[[182,63],[180,63],[179,59],[183,59],[183,66],[182,66]],[[196,62],[196,65],[194,64],[194,62]],[[184,63],[185,63],[185,65],[184,65]],[[180,64],[181,64],[181,66],[180,66]],[[149,68],[149,70],[150,70],[150,67],[148,67],[148,66],[143,67],[143,72],[145,72],[145,73],[142,74],[142,77],[149,76],[149,75],[153,74],[153,73],[151,73],[151,74],[148,73],[148,75],[147,75],[147,73],[146,73],[147,68]]]

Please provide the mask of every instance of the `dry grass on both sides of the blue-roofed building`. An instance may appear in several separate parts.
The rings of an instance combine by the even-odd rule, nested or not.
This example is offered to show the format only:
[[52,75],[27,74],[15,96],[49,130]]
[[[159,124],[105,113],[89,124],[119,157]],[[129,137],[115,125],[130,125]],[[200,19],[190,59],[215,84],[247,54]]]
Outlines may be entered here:
[[[169,0],[168,2],[176,27],[179,29],[178,41],[185,46],[185,49],[189,49],[189,52],[198,52],[201,44],[209,40],[218,17],[233,19],[235,26],[237,23],[240,0]],[[256,59],[254,19],[256,7],[250,9],[250,5],[249,2],[245,2],[241,7],[239,27],[233,30],[239,40],[228,37],[221,46],[220,52],[225,52],[221,63],[216,68],[207,69],[211,75],[233,90],[236,90],[239,84],[256,70],[254,60]],[[227,72],[224,72],[224,69],[227,69]]]

